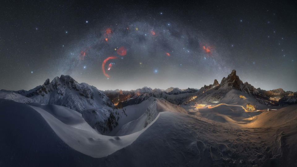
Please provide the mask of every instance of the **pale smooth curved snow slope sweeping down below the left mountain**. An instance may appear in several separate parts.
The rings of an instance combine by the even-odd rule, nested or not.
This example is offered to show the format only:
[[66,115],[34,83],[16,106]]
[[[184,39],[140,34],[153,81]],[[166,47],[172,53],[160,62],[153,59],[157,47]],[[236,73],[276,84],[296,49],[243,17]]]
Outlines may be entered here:
[[[32,109],[28,108],[28,106]],[[49,124],[51,129],[60,139],[67,143],[67,145],[76,151],[97,158],[107,156],[126,147],[146,130],[146,128],[144,128],[142,131],[121,137],[105,136],[98,134],[91,126],[84,122],[80,113],[65,107],[55,105],[41,106],[38,104],[24,105],[13,101],[1,101],[0,108],[2,114],[8,114],[5,115],[6,117],[9,117],[9,112],[12,110],[17,112],[15,113],[16,115],[22,113],[23,108],[25,108],[25,112],[28,115],[35,115],[36,112],[39,113]],[[56,109],[58,109],[58,111]],[[3,117],[2,119],[6,117]],[[15,123],[14,126],[18,126],[18,122]],[[34,124],[38,126],[37,122],[34,122]],[[149,128],[149,126],[147,126],[147,128]],[[14,133],[17,135],[19,132]]]

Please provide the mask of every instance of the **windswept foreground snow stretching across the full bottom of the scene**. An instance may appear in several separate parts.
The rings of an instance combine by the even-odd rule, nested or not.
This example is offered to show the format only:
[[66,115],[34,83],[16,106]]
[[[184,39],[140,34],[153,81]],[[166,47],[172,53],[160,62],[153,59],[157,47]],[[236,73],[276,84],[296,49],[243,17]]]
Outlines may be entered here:
[[[100,135],[80,113],[65,107],[0,100],[0,133],[5,134],[0,136],[0,166],[297,165],[297,105],[257,115],[236,106],[209,109],[210,115],[227,116],[225,121],[202,116],[206,109],[183,113],[162,99],[142,105],[147,110],[123,119],[117,131],[137,132],[113,137]],[[157,117],[134,130],[149,120],[143,118],[148,110],[158,111],[149,112]]]

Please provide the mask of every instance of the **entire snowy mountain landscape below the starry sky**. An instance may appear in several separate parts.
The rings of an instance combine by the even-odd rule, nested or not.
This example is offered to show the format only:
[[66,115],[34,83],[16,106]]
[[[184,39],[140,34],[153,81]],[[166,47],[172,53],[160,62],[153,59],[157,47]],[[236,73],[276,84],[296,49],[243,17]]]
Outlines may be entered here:
[[1,90],[0,166],[297,166],[296,92],[235,70],[200,89],[105,92],[126,101],[68,75]]

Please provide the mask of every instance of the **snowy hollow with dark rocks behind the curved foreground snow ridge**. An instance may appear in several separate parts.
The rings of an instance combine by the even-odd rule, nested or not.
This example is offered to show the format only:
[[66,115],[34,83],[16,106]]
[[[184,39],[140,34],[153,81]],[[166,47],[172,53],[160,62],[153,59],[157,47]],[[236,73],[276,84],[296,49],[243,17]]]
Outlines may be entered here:
[[84,110],[82,114],[84,119],[101,134],[122,136],[144,129],[159,112],[164,111],[186,112],[168,101],[149,97],[140,104],[129,105],[122,109],[101,107]]

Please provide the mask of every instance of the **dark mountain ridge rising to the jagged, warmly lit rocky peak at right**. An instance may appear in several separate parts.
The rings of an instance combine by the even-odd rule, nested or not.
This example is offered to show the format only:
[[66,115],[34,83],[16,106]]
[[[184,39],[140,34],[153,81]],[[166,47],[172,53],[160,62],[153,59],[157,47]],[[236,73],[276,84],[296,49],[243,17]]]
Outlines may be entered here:
[[[228,94],[228,92],[230,93]],[[236,93],[232,94],[233,92]],[[272,95],[269,96],[269,94]],[[234,96],[234,98],[236,97],[236,101],[241,101],[239,96],[244,95],[250,97],[248,101],[251,101],[254,104],[273,106],[283,104],[296,104],[297,101],[296,98],[294,98],[295,94],[296,93],[290,91],[284,92],[282,89],[276,89],[273,91],[265,91],[260,88],[256,89],[248,82],[243,83],[239,79],[239,76],[236,75],[236,71],[232,70],[232,72],[227,77],[224,77],[222,79],[221,83],[219,83],[217,79],[215,79],[213,84],[210,84],[208,86],[204,85],[204,87],[198,90],[188,88],[184,92],[179,88],[173,87],[168,88],[165,91],[162,91],[161,89],[154,89],[152,92],[142,94],[136,98],[119,102],[117,108],[139,104],[140,102],[146,100],[151,96],[156,98],[164,98],[170,103],[181,105],[190,101],[196,101],[199,103],[218,103],[222,101],[229,101],[227,99],[230,99],[231,96]],[[279,101],[273,99],[272,97],[274,96],[278,96]],[[248,103],[248,101],[246,101],[246,103]]]

